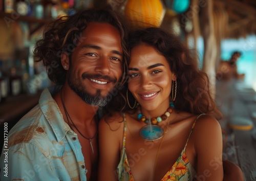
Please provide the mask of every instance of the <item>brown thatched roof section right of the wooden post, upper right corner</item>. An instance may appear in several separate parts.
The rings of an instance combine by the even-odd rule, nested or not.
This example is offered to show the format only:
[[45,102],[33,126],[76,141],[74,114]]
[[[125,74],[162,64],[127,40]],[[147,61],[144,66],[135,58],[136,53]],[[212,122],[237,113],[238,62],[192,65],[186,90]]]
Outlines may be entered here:
[[216,28],[222,28],[222,38],[240,38],[256,34],[255,0],[214,0]]

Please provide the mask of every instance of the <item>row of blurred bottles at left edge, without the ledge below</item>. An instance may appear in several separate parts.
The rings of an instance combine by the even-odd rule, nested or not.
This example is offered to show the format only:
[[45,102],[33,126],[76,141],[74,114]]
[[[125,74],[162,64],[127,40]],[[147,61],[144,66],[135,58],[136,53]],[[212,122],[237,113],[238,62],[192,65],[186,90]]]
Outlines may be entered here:
[[8,97],[36,94],[51,84],[42,62],[34,62],[30,48],[16,50],[13,58],[0,58],[0,104]]

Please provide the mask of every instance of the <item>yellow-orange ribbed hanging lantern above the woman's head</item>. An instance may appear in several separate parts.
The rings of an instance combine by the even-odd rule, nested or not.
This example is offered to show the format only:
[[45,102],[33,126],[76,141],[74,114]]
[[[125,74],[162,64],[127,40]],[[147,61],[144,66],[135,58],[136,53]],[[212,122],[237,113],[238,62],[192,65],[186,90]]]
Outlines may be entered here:
[[165,9],[160,0],[127,0],[124,14],[135,27],[160,27]]

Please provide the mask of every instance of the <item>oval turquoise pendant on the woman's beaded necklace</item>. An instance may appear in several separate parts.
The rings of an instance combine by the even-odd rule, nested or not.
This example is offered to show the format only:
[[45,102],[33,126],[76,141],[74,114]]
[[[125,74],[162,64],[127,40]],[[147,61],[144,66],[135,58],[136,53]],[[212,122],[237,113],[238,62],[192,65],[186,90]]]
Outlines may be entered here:
[[163,128],[157,125],[146,125],[140,129],[140,136],[147,141],[158,140],[163,136]]

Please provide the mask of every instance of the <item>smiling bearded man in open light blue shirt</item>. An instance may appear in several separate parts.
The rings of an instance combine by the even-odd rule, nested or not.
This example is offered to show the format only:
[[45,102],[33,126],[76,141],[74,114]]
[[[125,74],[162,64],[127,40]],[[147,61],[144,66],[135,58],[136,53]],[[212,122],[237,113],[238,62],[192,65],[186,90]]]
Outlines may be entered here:
[[125,81],[126,31],[120,15],[96,9],[45,30],[34,53],[59,86],[45,89],[10,130],[1,180],[96,180],[96,112]]

